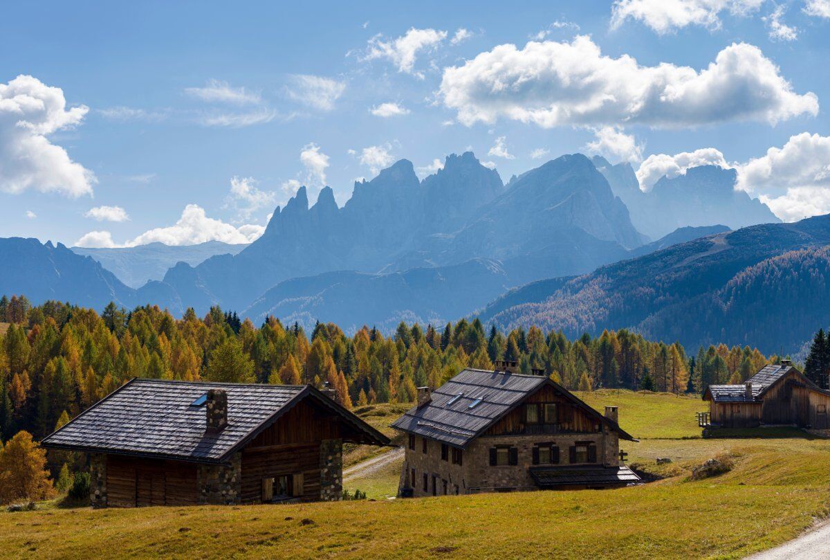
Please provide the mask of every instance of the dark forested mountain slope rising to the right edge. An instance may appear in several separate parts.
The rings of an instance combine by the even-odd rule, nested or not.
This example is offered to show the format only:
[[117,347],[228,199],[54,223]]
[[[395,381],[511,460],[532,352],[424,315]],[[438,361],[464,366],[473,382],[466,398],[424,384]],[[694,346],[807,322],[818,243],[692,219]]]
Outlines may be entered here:
[[830,323],[828,244],[830,215],[749,226],[579,278],[535,282],[480,317],[505,328],[561,328],[569,336],[629,327],[687,348],[722,341],[766,353],[797,351]]

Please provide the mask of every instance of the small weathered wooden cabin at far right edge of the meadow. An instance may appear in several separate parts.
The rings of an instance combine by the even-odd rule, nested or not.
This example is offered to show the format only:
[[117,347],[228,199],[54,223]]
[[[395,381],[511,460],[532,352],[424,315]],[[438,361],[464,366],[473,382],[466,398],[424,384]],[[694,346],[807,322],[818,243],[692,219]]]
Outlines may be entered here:
[[764,366],[740,385],[710,385],[703,395],[710,402],[710,425],[752,428],[796,425],[826,430],[830,391],[824,391],[789,360]]

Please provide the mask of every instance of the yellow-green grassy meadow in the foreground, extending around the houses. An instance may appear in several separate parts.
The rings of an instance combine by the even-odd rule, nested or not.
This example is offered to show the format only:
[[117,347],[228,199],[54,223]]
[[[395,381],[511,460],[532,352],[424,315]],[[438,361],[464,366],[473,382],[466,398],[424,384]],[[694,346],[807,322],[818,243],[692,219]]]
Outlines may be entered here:
[[[632,463],[658,469],[654,459],[670,457],[672,463],[659,469],[672,478],[601,492],[0,513],[0,555],[739,558],[793,538],[813,518],[830,513],[830,441],[647,439],[699,435],[693,413],[700,401],[625,392],[618,399],[621,424],[642,438],[623,442]],[[608,403],[601,394],[586,400],[594,406]],[[688,407],[692,414],[672,412],[674,407]],[[627,419],[652,413],[658,419],[653,429]],[[688,481],[692,466],[722,453],[735,457],[735,469],[715,479]],[[313,523],[303,525],[303,519]]]

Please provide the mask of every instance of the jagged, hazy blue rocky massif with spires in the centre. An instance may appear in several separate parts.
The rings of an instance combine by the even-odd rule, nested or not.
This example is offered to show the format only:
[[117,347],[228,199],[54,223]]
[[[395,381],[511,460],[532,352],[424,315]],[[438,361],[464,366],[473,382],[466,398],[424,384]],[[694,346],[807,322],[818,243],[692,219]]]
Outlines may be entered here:
[[451,266],[472,258],[521,267],[526,282],[584,273],[642,244],[625,205],[583,155],[523,174],[506,189],[470,152],[418,181],[400,160],[354,184],[339,209],[328,187],[309,208],[300,189],[261,238],[236,256],[178,265],[164,277],[185,305],[242,309],[278,282],[334,270],[368,273]]

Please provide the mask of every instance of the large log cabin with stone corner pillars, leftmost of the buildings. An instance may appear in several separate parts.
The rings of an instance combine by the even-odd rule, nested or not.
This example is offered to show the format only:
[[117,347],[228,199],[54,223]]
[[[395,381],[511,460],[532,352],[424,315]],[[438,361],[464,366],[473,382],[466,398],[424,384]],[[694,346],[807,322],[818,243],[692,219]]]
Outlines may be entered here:
[[133,379],[42,445],[90,454],[95,507],[338,500],[343,443],[386,436],[313,386]]

